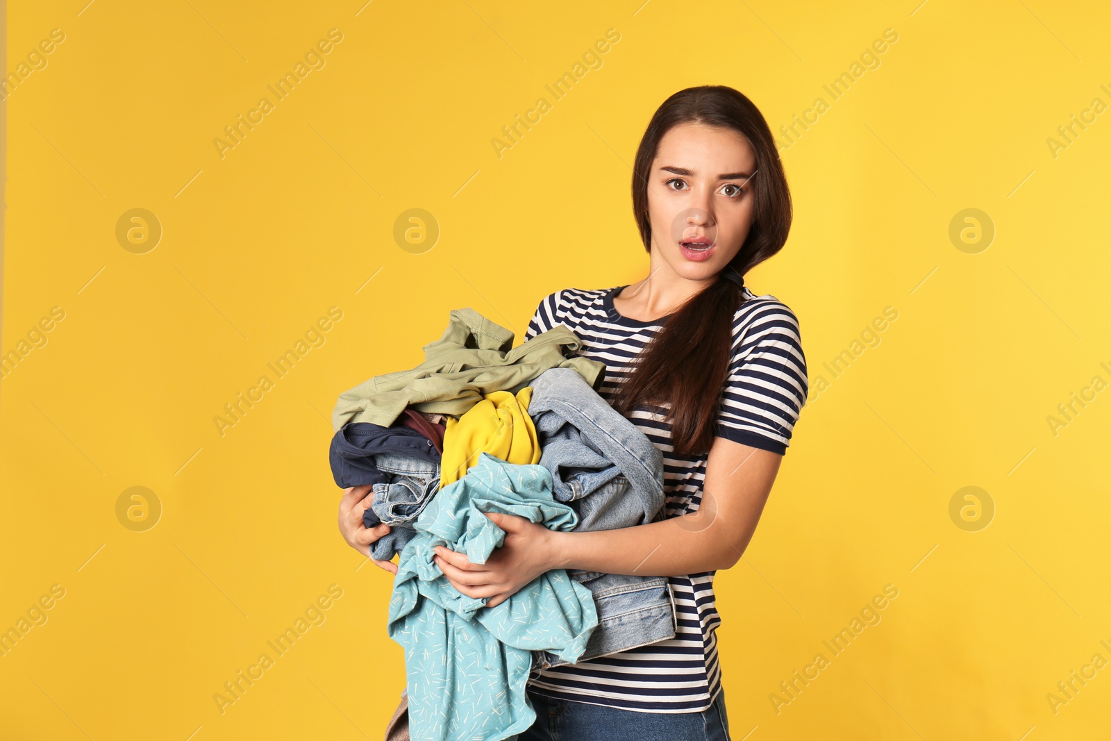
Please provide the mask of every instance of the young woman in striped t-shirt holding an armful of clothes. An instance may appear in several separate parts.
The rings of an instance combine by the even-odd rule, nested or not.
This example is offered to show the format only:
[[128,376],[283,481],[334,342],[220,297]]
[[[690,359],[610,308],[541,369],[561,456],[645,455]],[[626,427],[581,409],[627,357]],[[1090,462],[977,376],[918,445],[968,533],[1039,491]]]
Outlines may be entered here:
[[[794,313],[742,279],[782,249],[791,224],[787,179],[755,106],[723,86],[671,96],[641,139],[632,202],[648,277],[544,297],[526,339],[565,324],[583,356],[605,363],[601,395],[663,454],[665,519],[553,532],[490,513],[508,534],[487,563],[444,548],[437,561],[460,592],[491,607],[550,569],[665,575],[678,632],[534,672],[537,721],[520,741],[729,738],[713,575],[751,540],[805,403]],[[340,528],[369,555],[387,525],[362,528],[366,489],[344,494]]]

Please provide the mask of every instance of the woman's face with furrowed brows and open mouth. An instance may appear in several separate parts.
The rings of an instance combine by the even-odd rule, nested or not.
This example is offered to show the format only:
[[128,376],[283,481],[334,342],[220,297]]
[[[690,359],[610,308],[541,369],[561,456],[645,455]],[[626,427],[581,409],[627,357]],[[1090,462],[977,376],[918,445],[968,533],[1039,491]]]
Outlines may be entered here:
[[752,223],[755,152],[731,129],[673,127],[648,181],[653,271],[708,280],[740,251]]

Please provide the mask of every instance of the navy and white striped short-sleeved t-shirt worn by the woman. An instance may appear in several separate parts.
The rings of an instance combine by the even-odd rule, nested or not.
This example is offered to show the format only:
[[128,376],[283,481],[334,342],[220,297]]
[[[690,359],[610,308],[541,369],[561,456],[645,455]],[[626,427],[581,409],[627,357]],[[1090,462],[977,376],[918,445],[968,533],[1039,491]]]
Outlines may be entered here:
[[[605,364],[599,391],[613,399],[617,384],[629,372],[629,361],[667,319],[638,321],[621,316],[611,289],[556,291],[541,300],[524,339],[564,324],[582,340],[580,354]],[[732,360],[722,388],[717,435],[787,452],[791,431],[807,398],[807,361],[794,313],[775,297],[744,300],[733,316]],[[663,407],[639,405],[629,415],[663,454],[667,495],[664,514],[679,517],[698,510],[705,480],[707,454],[678,457],[672,452],[671,425]],[[675,638],[620,653],[534,671],[528,685],[539,693],[640,712],[701,712],[721,690],[714,605],[713,571],[669,577],[675,601]]]

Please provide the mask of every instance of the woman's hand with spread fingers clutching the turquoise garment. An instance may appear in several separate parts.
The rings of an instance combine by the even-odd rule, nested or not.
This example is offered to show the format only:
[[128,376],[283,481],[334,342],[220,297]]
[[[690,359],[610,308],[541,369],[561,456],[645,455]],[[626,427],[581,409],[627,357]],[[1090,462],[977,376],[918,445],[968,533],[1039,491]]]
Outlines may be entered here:
[[483,514],[506,531],[504,544],[494,549],[486,563],[471,563],[466,553],[444,545],[436,548],[433,560],[452,587],[467,597],[491,598],[486,607],[492,608],[553,568],[558,533],[516,514]]

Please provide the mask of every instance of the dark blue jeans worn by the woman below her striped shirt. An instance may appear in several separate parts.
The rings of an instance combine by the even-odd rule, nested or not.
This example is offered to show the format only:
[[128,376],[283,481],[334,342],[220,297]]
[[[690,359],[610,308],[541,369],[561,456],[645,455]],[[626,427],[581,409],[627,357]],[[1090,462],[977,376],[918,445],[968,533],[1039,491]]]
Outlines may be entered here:
[[510,741],[729,741],[725,691],[709,710],[642,713],[557,700],[529,690],[537,720]]

